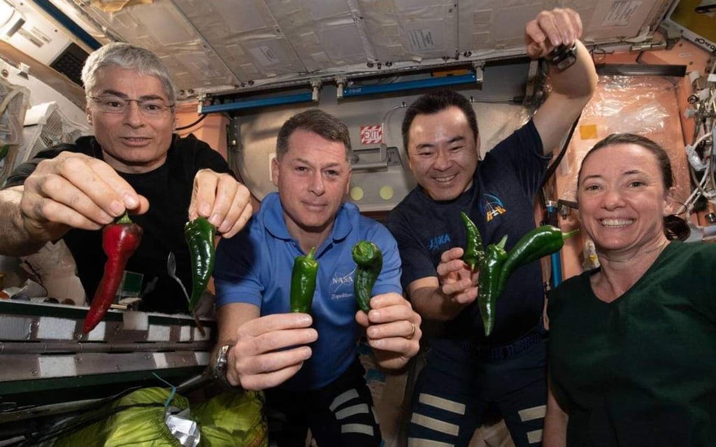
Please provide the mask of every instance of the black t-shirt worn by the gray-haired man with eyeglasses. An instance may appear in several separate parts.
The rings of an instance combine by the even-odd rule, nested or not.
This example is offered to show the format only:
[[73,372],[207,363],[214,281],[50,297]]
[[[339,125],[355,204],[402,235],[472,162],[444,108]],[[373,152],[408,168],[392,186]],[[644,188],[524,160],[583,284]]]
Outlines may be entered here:
[[[54,158],[64,150],[84,153],[102,160],[102,148],[93,136],[81,137],[74,144],[62,144],[44,150],[37,158],[19,165],[9,176],[6,188],[19,186],[43,159]],[[178,284],[167,273],[170,251],[176,257],[178,277],[191,291],[189,251],[184,239],[194,177],[198,170],[208,168],[218,173],[231,173],[226,160],[209,145],[193,137],[174,135],[166,162],[148,173],[120,173],[137,193],[145,196],[150,207],[147,213],[130,216],[142,227],[142,242],[127,262],[127,271],[142,274],[142,290],[155,282],[153,289],[142,297],[141,309],[147,312],[187,313],[187,302]],[[102,231],[72,229],[64,242],[77,263],[77,274],[91,300],[104,271]],[[155,279],[156,278],[156,279]],[[150,287],[151,288],[151,287]]]

